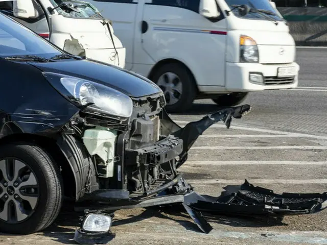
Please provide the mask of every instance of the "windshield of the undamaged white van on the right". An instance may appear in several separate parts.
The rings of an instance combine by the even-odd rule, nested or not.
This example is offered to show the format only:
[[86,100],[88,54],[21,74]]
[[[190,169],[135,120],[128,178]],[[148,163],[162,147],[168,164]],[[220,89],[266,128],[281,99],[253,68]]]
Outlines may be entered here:
[[[232,5],[247,5],[250,9],[252,9],[247,15],[241,16],[237,9],[233,10],[232,12],[240,18],[247,18],[247,19],[265,19],[267,17],[276,21],[283,21],[283,17],[271,6],[268,0],[225,0],[228,4],[229,8],[232,9]],[[251,5],[252,4],[252,5]],[[254,9],[263,10],[260,13],[255,13]],[[271,12],[272,14],[267,14],[263,12]]]

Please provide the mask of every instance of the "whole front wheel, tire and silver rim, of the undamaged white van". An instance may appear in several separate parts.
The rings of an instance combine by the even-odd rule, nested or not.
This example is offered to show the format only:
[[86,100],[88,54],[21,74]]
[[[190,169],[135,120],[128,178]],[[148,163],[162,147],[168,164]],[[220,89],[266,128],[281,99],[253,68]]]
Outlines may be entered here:
[[196,87],[193,75],[181,64],[166,64],[159,67],[152,81],[164,92],[169,112],[181,112],[191,108]]

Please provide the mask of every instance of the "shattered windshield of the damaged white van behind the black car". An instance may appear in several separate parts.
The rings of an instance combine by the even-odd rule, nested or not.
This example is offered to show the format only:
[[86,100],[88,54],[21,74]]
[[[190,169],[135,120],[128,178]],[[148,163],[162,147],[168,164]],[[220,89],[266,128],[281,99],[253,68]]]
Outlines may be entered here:
[[[103,19],[99,10],[90,3],[78,0],[50,0],[54,8],[60,6],[56,10],[59,14],[71,18],[90,18],[90,19]],[[77,11],[72,10],[76,9]]]

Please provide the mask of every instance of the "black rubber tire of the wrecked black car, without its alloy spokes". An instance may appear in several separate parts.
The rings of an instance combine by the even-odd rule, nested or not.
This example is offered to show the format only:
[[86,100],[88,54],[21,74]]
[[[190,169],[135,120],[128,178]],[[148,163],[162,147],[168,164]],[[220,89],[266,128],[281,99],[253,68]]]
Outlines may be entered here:
[[[62,189],[63,189],[59,168],[54,162],[54,160],[52,159],[52,157],[49,154],[47,154],[44,150],[42,150],[38,145],[35,145],[33,143],[27,143],[27,142],[19,142],[19,143],[11,143],[11,144],[0,146],[0,159],[18,160],[18,163],[20,162],[19,167],[25,164],[25,167],[21,168],[21,170],[24,171],[22,171],[22,173],[19,172],[20,174],[18,175],[18,179],[19,181],[21,181],[22,178],[25,177],[28,178],[27,180],[25,179],[25,181],[30,181],[31,174],[28,177],[26,177],[26,174],[24,173],[25,169],[29,169],[31,173],[33,173],[37,185],[34,184],[34,186],[36,186],[34,187],[34,191],[28,192],[28,194],[31,195],[31,193],[36,193],[36,196],[38,196],[38,200],[36,204],[33,204],[33,206],[35,205],[34,211],[28,214],[26,219],[21,219],[21,222],[17,222],[18,219],[16,218],[15,224],[12,223],[10,224],[9,222],[6,222],[4,219],[0,219],[0,232],[26,235],[26,234],[31,234],[34,232],[41,231],[49,227],[57,218],[60,212],[62,206]],[[11,164],[15,165],[17,164],[17,162],[11,160]],[[17,165],[15,165],[15,167],[16,166]],[[2,168],[4,169],[4,167]],[[0,169],[0,173],[2,173],[1,169]],[[29,173],[30,172],[27,171],[27,175]],[[25,176],[21,177],[24,174]],[[1,174],[0,177],[3,178]],[[7,179],[8,178],[9,177],[7,177]],[[12,186],[13,184],[17,184],[14,183],[13,181],[14,180],[8,182],[8,184],[6,185]],[[35,183],[35,181],[33,183]],[[11,202],[10,204],[13,204],[11,200],[13,200],[14,198],[16,199],[15,197],[16,194],[20,195],[19,199],[21,198],[22,200],[25,200],[24,198],[26,197],[26,195],[22,193],[26,193],[26,191],[29,191],[28,188],[33,188],[33,187],[27,187],[27,189],[25,189],[24,192],[21,191],[21,188],[24,188],[24,182],[20,182],[18,188],[15,188],[15,195],[11,195],[11,196],[7,195],[7,197],[9,196],[8,200]],[[16,199],[16,201],[19,199]],[[20,202],[20,205],[22,205],[22,202]],[[28,205],[26,206],[32,207]],[[22,207],[25,208],[25,203],[24,205],[22,205]],[[31,209],[33,210],[33,208]],[[14,209],[13,212],[15,211],[16,210]],[[16,217],[18,216],[17,212],[15,216]],[[8,217],[6,219],[8,219]]]

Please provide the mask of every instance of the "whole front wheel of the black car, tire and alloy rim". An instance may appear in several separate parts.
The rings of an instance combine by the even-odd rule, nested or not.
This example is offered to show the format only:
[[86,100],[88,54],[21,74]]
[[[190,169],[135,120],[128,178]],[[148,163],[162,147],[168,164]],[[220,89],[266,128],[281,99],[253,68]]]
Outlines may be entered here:
[[50,226],[62,205],[62,181],[39,146],[0,146],[0,232],[31,234]]

